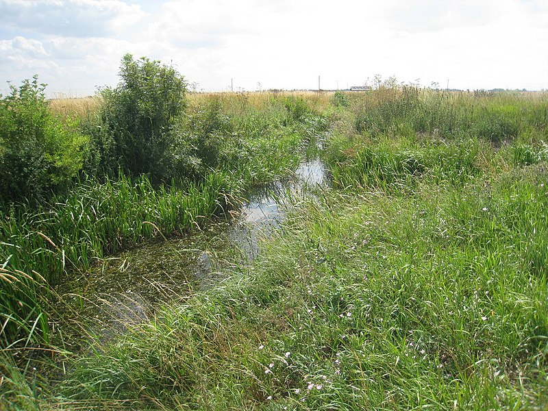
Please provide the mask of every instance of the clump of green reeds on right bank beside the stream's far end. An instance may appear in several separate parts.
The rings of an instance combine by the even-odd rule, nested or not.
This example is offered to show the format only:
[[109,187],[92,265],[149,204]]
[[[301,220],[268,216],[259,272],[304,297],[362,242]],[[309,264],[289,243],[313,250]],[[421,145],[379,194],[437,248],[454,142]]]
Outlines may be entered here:
[[338,188],[375,188],[410,193],[419,182],[461,185],[479,173],[482,147],[475,140],[416,144],[406,139],[359,142],[329,139],[325,157]]

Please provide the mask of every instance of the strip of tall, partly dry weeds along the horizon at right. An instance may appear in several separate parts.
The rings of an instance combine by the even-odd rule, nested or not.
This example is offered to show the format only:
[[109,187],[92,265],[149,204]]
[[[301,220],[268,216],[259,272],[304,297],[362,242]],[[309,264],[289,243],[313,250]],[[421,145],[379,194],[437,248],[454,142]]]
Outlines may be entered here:
[[501,145],[517,136],[547,137],[545,93],[446,92],[379,88],[351,98],[358,134],[479,137]]

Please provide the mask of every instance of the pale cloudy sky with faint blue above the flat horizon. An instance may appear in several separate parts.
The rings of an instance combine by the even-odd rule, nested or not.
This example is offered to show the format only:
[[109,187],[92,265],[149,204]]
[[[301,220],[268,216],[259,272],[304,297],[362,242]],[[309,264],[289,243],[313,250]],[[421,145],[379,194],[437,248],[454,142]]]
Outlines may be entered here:
[[116,86],[125,53],[197,90],[336,89],[375,75],[548,88],[548,0],[0,0],[0,92]]

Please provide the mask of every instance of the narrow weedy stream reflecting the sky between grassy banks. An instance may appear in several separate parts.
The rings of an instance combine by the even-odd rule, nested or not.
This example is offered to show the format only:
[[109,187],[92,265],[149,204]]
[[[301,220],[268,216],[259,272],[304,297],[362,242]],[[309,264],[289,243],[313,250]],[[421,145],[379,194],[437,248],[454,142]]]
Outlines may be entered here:
[[232,221],[219,221],[184,238],[147,242],[105,258],[71,283],[72,292],[62,299],[69,301],[69,310],[79,317],[99,324],[99,329],[92,327],[99,335],[145,321],[158,305],[184,299],[256,258],[261,238],[284,221],[290,197],[310,195],[311,188],[325,183],[320,160],[303,162],[295,178],[249,192],[240,215]]

